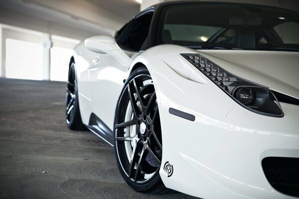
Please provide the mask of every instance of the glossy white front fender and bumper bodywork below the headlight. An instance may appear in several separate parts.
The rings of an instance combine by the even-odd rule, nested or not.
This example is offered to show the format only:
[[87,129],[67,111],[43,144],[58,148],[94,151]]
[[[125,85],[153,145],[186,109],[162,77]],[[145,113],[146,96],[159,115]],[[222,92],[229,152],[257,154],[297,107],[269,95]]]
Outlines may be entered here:
[[[292,198],[271,187],[261,161],[267,156],[299,157],[299,107],[282,104],[283,118],[247,110],[180,53],[194,51],[175,45],[152,47],[129,70],[142,63],[153,80],[162,130],[159,174],[164,185],[208,199]],[[169,108],[194,115],[195,120],[170,114]],[[167,162],[173,166],[169,177],[163,167]]]

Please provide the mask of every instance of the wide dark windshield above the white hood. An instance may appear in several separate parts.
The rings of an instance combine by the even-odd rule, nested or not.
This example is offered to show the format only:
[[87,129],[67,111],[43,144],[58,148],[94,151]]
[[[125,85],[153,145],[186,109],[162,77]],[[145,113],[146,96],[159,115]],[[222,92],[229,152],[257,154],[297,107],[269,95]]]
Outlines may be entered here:
[[299,13],[232,3],[167,6],[157,44],[197,49],[299,50]]

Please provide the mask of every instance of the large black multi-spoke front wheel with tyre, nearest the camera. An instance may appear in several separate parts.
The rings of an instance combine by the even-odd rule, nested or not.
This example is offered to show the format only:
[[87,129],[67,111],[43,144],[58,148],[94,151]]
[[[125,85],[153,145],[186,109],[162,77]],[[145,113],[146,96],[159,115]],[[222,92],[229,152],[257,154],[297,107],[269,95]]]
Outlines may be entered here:
[[125,181],[140,192],[165,192],[158,173],[162,159],[159,110],[151,77],[144,67],[126,81],[118,101],[114,133],[117,162]]

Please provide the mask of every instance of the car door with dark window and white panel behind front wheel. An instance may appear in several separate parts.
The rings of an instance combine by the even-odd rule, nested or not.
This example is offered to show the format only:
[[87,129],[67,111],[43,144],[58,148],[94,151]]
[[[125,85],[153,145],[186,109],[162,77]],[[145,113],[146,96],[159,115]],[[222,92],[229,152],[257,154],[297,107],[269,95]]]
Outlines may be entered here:
[[[117,34],[117,43],[131,57],[140,52],[149,34],[153,11],[147,11],[130,21]],[[127,78],[129,65],[125,66],[111,55],[97,54],[89,68],[89,87],[93,113],[113,130],[114,113],[119,94]],[[113,136],[112,136],[113,137]]]

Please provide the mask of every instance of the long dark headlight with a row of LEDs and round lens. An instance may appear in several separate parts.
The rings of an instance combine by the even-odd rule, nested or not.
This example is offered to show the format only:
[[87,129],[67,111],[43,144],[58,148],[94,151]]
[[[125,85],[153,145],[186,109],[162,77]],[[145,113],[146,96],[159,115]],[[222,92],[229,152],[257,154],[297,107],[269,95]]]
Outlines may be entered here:
[[181,55],[243,107],[267,116],[284,116],[278,100],[270,89],[239,78],[200,54]]

